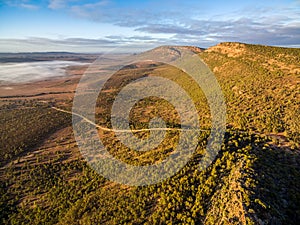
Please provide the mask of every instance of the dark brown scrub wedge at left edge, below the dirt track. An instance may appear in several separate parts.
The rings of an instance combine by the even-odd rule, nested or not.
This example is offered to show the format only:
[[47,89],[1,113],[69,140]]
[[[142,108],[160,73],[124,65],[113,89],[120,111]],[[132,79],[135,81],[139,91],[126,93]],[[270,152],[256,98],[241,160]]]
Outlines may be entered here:
[[61,112],[26,101],[20,103],[11,103],[1,109],[0,165],[30,150],[53,131],[70,124],[70,116]]

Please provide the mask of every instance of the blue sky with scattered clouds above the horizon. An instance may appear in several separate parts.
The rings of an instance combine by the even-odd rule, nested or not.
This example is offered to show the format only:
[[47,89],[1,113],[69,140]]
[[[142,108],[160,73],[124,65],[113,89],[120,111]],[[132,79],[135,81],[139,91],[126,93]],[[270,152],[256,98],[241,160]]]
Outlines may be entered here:
[[300,47],[299,0],[0,0],[0,52]]

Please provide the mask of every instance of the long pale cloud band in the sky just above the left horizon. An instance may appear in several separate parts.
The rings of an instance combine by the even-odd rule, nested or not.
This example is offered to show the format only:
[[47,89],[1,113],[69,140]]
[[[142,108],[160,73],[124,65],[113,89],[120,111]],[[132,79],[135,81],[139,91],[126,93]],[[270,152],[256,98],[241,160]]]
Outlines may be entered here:
[[[174,42],[175,43],[175,42]],[[101,39],[88,38],[27,38],[0,39],[1,52],[46,52],[67,51],[78,53],[141,52],[158,45],[169,44],[169,40],[150,36],[107,36]]]

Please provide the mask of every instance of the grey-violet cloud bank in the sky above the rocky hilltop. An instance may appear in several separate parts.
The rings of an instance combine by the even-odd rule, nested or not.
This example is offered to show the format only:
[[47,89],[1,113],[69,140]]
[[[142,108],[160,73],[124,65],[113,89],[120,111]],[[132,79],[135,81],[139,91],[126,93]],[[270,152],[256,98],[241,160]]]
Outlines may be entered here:
[[150,24],[140,28],[153,34],[173,34],[174,39],[211,40],[210,43],[238,41],[267,45],[299,45],[300,24],[270,25],[246,18],[233,21],[193,21],[189,25]]

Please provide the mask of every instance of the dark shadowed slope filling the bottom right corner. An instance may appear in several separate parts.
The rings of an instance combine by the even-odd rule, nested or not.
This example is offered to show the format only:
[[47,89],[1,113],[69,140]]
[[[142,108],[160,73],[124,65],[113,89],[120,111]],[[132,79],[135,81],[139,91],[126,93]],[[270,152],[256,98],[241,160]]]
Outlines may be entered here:
[[[287,147],[255,148],[250,216],[257,224],[298,224],[300,221],[300,153]],[[254,211],[253,211],[254,210]],[[255,214],[254,214],[255,213]]]

